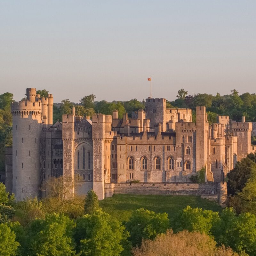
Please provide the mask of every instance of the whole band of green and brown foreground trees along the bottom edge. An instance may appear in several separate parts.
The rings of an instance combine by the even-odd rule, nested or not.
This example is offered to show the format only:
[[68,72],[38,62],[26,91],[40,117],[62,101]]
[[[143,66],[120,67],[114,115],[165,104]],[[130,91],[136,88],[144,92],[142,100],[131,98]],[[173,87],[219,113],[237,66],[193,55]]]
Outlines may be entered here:
[[[16,203],[0,184],[0,254],[256,255],[256,217],[249,212],[237,215],[232,207],[213,212],[187,206],[174,216],[140,208],[121,223],[99,207],[92,190],[75,206],[72,201],[66,208],[60,207],[57,196]],[[189,248],[190,254],[185,253]]]

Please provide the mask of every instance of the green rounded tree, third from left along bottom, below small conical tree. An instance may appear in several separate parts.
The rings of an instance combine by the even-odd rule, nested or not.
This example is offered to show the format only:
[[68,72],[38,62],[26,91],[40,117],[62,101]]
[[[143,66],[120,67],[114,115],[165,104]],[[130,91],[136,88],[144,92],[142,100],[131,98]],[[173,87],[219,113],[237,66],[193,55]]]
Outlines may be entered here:
[[81,256],[117,256],[128,233],[119,221],[101,209],[77,220],[75,239]]

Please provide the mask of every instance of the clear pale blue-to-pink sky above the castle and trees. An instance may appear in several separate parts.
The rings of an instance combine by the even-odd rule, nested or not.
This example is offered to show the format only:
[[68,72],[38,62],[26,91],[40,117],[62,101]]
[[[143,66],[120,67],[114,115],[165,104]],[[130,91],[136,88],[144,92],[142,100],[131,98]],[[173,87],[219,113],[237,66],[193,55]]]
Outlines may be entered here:
[[54,102],[255,92],[256,1],[0,0],[0,94]]

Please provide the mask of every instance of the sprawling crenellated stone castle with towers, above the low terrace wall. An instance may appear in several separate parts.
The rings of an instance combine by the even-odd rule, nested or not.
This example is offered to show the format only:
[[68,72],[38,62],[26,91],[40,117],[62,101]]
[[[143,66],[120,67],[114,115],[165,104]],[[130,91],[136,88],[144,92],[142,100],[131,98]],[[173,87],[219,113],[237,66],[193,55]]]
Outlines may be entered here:
[[13,146],[6,148],[5,185],[17,200],[47,196],[44,181],[63,175],[77,180],[72,193],[93,189],[99,199],[111,184],[191,184],[204,168],[207,183],[221,182],[251,146],[252,123],[218,116],[209,125],[205,107],[166,108],[165,99],[146,99],[145,110],[128,118],[63,115],[53,124],[53,96],[27,88],[27,100],[12,103]]

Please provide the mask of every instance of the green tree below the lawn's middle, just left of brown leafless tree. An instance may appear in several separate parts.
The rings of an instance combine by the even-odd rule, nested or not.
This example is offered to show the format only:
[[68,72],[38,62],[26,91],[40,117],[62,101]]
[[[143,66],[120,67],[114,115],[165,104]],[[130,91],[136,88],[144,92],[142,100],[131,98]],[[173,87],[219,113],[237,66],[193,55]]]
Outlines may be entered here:
[[154,239],[158,234],[164,233],[169,228],[167,213],[156,213],[140,208],[132,213],[126,223],[133,246],[140,246],[142,239]]

